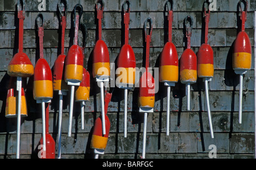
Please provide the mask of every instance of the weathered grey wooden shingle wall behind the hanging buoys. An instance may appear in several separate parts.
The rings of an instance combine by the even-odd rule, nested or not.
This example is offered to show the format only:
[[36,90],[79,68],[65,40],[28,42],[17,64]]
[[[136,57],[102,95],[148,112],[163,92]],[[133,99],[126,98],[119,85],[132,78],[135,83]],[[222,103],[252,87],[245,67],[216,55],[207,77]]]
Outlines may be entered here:
[[[5,118],[5,105],[9,75],[7,66],[18,52],[18,18],[16,0],[0,0],[0,158],[15,158],[16,119]],[[60,54],[60,20],[57,14],[58,0],[46,0],[45,10],[39,11],[44,1],[27,0],[24,20],[24,52],[33,65],[39,58],[39,45],[35,18],[39,12],[44,16],[44,58],[51,68]],[[65,31],[65,53],[72,45],[72,10],[77,3],[84,7],[82,23],[88,28],[84,66],[92,73],[92,50],[96,42],[95,0],[68,0],[67,29]],[[137,67],[144,59],[143,23],[147,17],[153,21],[150,48],[150,66],[159,67],[159,57],[167,41],[167,16],[164,12],[166,0],[130,0],[129,42],[134,49]],[[243,117],[238,124],[239,76],[232,69],[233,42],[236,39],[240,18],[239,0],[214,1],[209,22],[209,44],[214,51],[214,78],[209,84],[210,109],[214,139],[210,138],[204,82],[198,79],[192,85],[191,112],[187,112],[185,86],[176,83],[171,90],[170,136],[166,136],[167,88],[159,83],[154,113],[148,115],[146,158],[208,158],[210,145],[216,145],[217,158],[253,158],[254,155],[254,50],[251,70],[243,79]],[[172,41],[179,57],[184,51],[185,16],[193,17],[191,37],[192,50],[196,53],[204,42],[202,33],[204,0],[174,0],[174,22]],[[102,19],[102,39],[109,48],[110,62],[116,62],[123,44],[122,37],[123,0],[105,0]],[[248,1],[246,32],[254,47],[254,11],[256,1]],[[81,40],[81,35],[80,39]],[[92,76],[92,74],[91,74]],[[91,79],[91,97],[85,107],[85,129],[81,130],[79,104],[75,104],[72,137],[68,137],[69,97],[64,97],[62,126],[63,158],[93,158],[90,149],[93,123],[101,113],[100,89]],[[42,133],[40,104],[32,98],[32,78],[27,79],[26,97],[28,117],[22,119],[20,158],[36,158],[35,153]],[[109,104],[111,122],[108,146],[101,158],[139,158],[142,152],[143,116],[138,112],[138,88],[129,91],[127,138],[123,137],[123,91],[115,89]],[[49,114],[49,132],[57,139],[59,96],[54,95]],[[56,142],[57,154],[57,142]]]

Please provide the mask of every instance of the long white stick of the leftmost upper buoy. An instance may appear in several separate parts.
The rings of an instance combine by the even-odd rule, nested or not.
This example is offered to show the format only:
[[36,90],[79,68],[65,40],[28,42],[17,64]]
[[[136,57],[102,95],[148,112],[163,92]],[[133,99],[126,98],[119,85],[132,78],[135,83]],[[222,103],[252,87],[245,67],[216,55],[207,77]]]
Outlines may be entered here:
[[18,117],[17,117],[17,148],[16,159],[19,159],[20,148],[20,112],[21,112],[21,93],[22,93],[22,77],[17,77],[17,91],[18,91]]

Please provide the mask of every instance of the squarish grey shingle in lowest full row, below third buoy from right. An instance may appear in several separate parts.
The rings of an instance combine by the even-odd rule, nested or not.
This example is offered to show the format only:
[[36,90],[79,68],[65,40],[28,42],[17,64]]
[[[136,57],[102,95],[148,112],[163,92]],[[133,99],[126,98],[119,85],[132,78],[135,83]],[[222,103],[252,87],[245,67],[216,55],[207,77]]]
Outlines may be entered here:
[[179,133],[178,153],[196,153],[197,152],[197,134]]

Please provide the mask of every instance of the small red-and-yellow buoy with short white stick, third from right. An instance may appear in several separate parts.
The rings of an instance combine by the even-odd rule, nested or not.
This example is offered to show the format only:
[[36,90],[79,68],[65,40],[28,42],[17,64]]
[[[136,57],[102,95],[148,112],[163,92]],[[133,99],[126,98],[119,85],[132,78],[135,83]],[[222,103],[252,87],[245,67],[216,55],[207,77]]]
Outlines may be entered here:
[[[188,21],[190,19],[190,22]],[[189,22],[190,26],[187,26]],[[197,57],[191,49],[193,19],[190,15],[185,18],[185,27],[187,29],[187,49],[184,50],[180,57],[180,82],[186,84],[187,92],[187,110],[190,111],[190,85],[196,83],[197,80]]]

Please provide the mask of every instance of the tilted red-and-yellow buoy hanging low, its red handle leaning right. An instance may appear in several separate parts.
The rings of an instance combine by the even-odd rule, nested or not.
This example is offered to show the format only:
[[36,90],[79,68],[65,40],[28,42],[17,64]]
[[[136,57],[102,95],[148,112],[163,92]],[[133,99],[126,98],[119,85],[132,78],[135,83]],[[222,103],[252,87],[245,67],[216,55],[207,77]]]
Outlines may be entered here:
[[93,134],[92,139],[90,141],[90,148],[94,149],[95,159],[98,159],[98,155],[104,154],[105,148],[108,144],[109,138],[109,130],[110,130],[110,121],[107,116],[109,102],[112,98],[112,94],[106,93],[105,95],[105,126],[106,126],[106,134],[103,134],[102,131],[102,116],[98,117],[93,126]]

